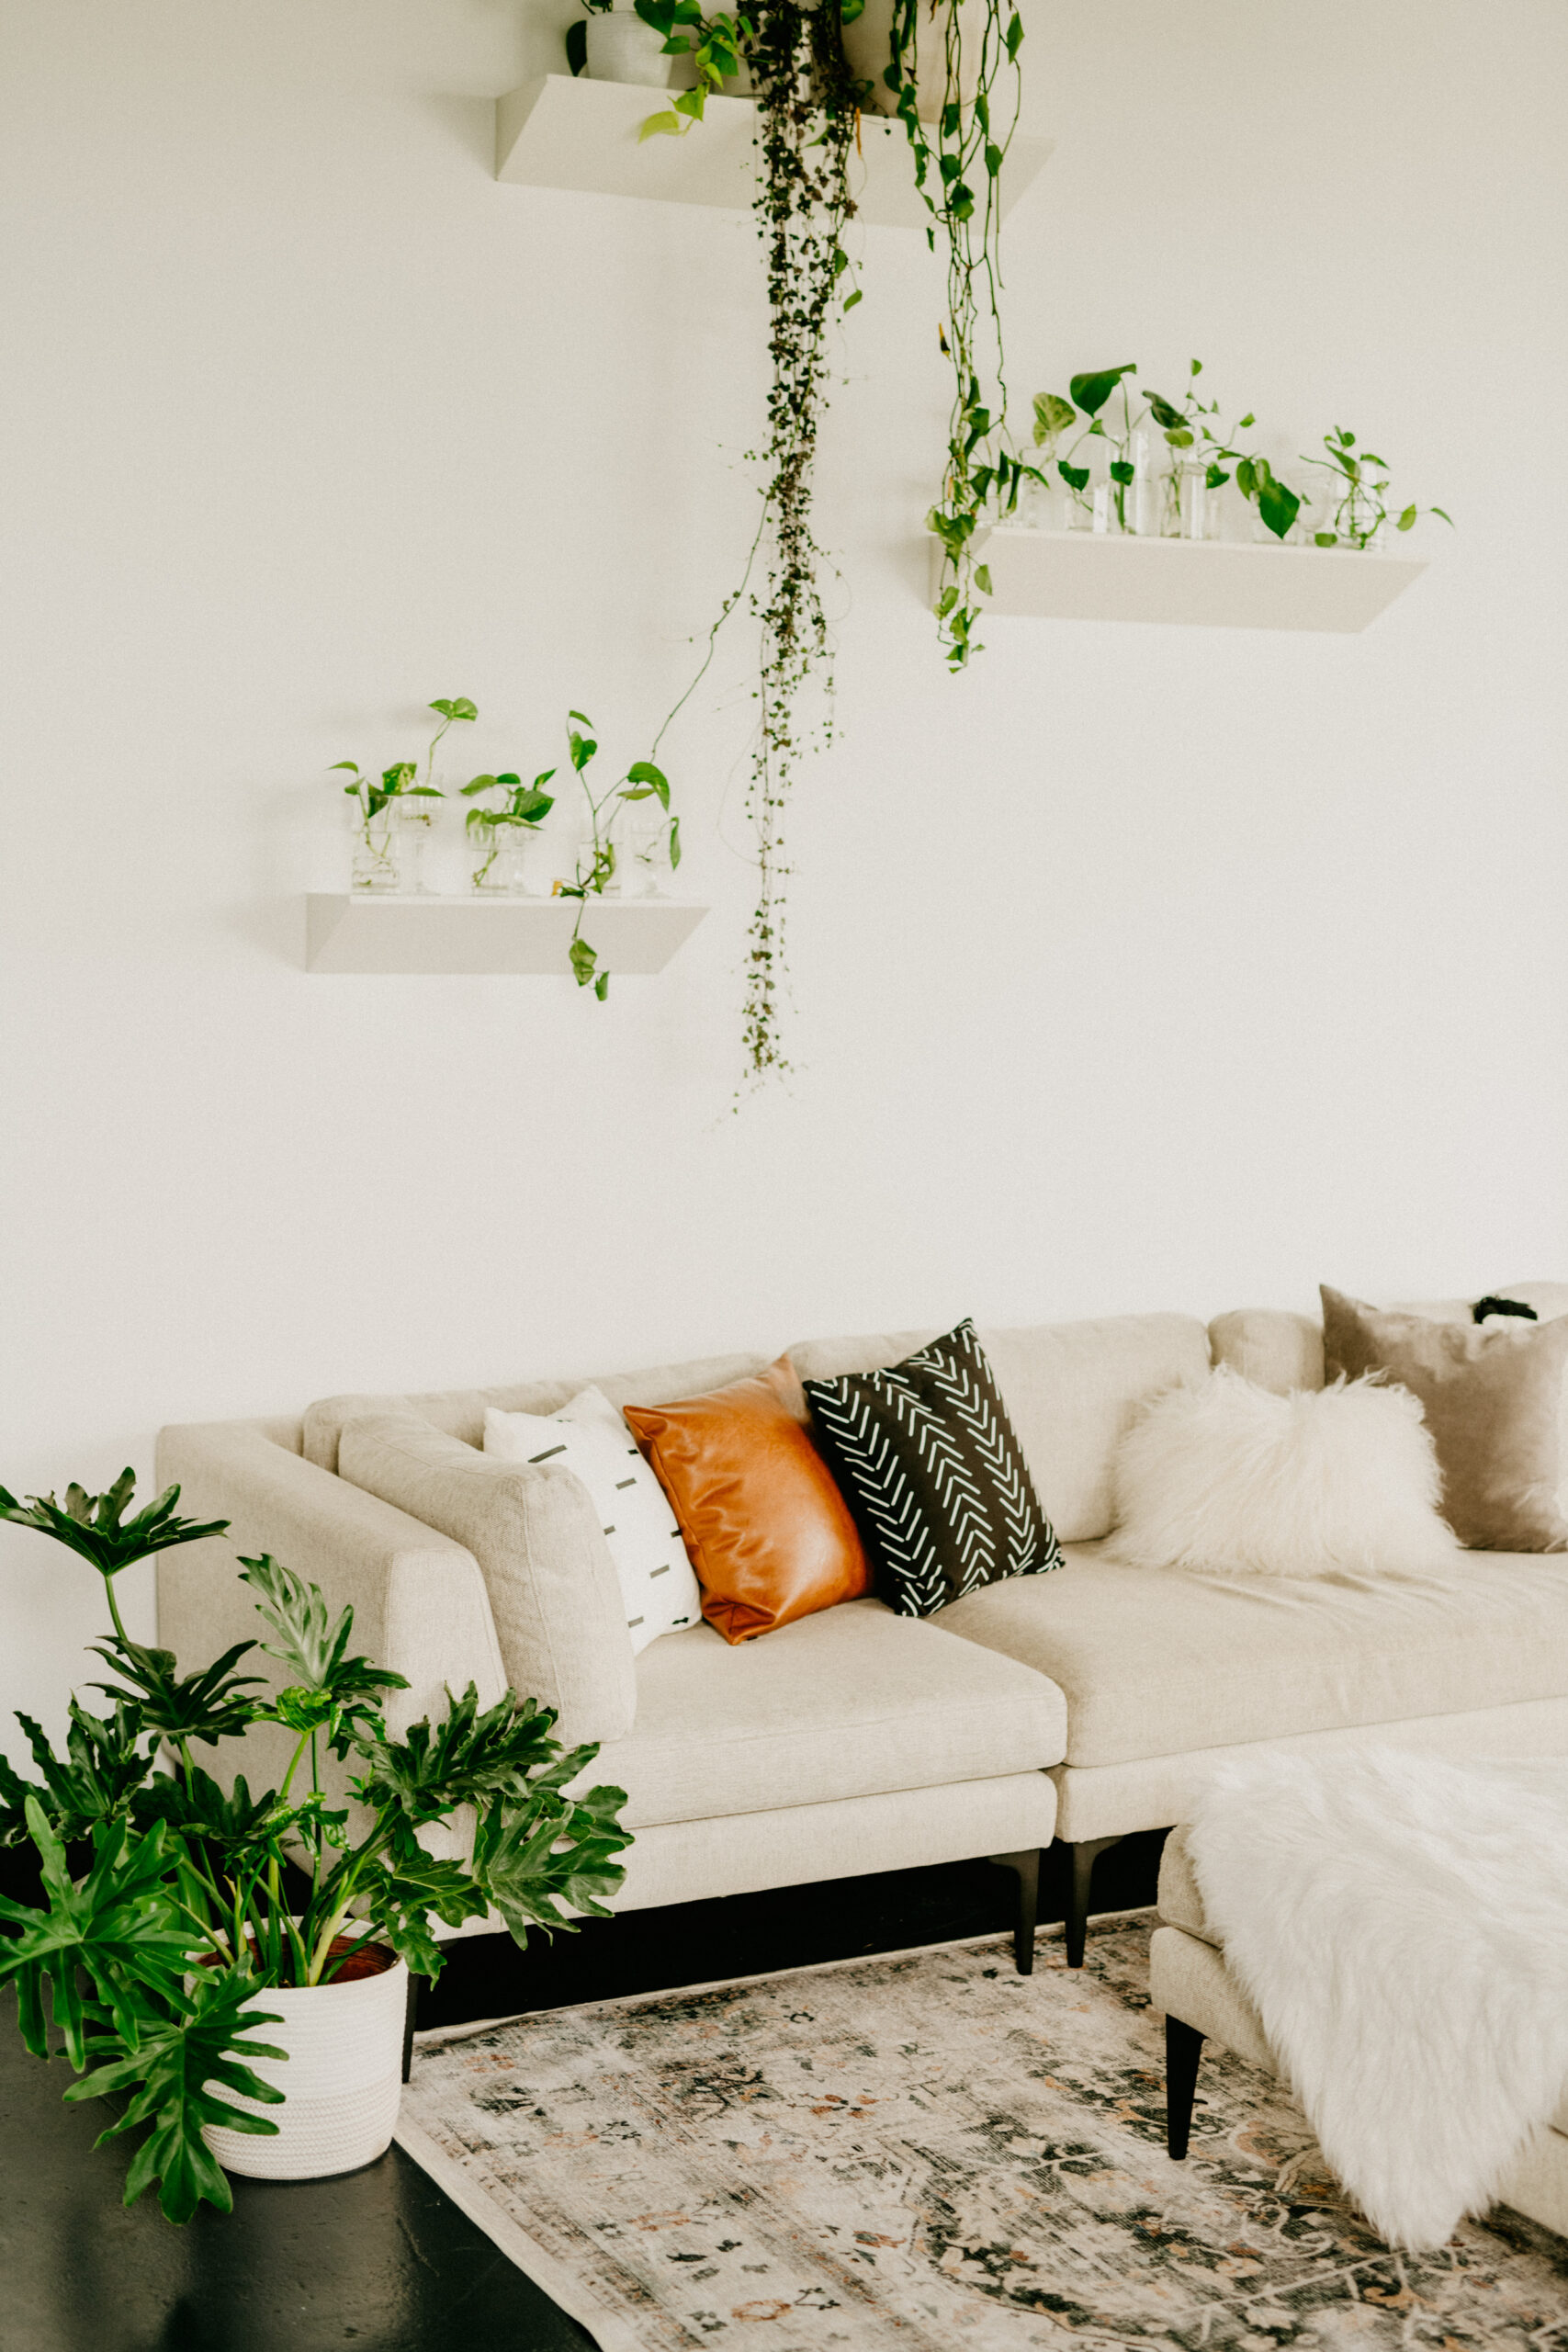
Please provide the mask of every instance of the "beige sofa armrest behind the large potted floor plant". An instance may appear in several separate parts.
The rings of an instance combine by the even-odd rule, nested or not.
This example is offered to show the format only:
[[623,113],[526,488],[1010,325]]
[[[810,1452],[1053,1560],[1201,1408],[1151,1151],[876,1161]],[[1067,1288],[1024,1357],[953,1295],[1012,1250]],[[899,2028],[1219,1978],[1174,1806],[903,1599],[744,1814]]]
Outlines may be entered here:
[[[158,1484],[179,1484],[186,1517],[230,1522],[228,1536],[158,1555],[158,1639],[165,1649],[190,1672],[233,1642],[261,1639],[266,1628],[240,1581],[237,1555],[273,1552],[320,1585],[334,1613],[350,1602],[353,1646],[407,1677],[407,1691],[388,1693],[386,1717],[395,1731],[440,1712],[444,1686],[461,1691],[475,1682],[480,1705],[494,1705],[505,1691],[505,1672],[473,1552],[308,1463],[277,1430],[259,1421],[209,1421],[160,1432]],[[244,1665],[275,1686],[282,1682],[273,1658],[254,1653]],[[268,1762],[273,1748],[287,1748],[287,1733],[249,1738],[268,1745]]]

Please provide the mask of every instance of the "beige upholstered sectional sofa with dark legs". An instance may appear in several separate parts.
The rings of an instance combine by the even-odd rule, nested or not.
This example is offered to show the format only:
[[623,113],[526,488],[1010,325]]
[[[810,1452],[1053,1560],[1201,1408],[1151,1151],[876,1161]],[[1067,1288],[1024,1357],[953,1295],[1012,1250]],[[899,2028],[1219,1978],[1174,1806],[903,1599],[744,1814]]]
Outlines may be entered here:
[[[1509,1296],[1568,1310],[1563,1287]],[[830,1378],[931,1336],[806,1341],[790,1355],[802,1376]],[[489,1700],[510,1679],[562,1708],[567,1738],[602,1740],[595,1776],[628,1790],[637,1832],[621,1910],[978,1853],[1027,1879],[1023,1858],[1056,1835],[1072,1846],[1074,1964],[1095,1853],[1180,1820],[1220,1750],[1331,1750],[1375,1731],[1443,1755],[1568,1752],[1568,1557],[1476,1552],[1474,1578],[1432,1588],[1222,1581],[1117,1559],[1112,1454],[1140,1404],[1211,1362],[1316,1388],[1314,1322],[1126,1315],[983,1327],[980,1341],[1067,1559],[933,1618],[860,1599],[733,1649],[708,1625],[663,1635],[632,1661],[585,1491],[475,1451],[487,1404],[548,1414],[578,1378],[334,1397],[301,1418],[165,1430],[160,1482],[179,1479],[183,1508],[228,1517],[233,1536],[160,1557],[160,1639],[197,1661],[252,1637],[233,1545],[270,1550],[355,1604],[357,1639],[409,1677],[404,1719],[440,1703],[442,1684],[473,1679]],[[616,1404],[661,1404],[759,1367],[724,1357],[597,1385]],[[364,1484],[339,1461],[348,1423]],[[266,1733],[252,1738],[256,1783],[277,1757]]]

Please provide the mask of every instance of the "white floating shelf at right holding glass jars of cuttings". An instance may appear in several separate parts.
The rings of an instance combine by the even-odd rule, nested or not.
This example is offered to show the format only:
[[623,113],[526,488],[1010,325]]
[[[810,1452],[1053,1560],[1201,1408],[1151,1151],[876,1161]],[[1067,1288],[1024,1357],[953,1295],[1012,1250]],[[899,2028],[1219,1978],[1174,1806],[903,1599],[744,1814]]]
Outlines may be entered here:
[[[1427,564],[1354,548],[1258,548],[1227,539],[1121,539],[994,529],[976,536],[987,612],[1046,621],[1180,621],[1187,628],[1319,628],[1354,635]],[[931,595],[943,574],[931,541]]]

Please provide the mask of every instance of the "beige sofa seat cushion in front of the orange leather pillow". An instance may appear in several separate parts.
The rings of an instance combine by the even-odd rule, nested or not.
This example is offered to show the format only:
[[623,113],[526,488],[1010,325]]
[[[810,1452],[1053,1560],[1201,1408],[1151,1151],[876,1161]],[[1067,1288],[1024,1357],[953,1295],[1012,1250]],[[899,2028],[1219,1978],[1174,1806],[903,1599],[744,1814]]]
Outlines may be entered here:
[[625,1790],[637,1830],[1044,1771],[1065,1726],[1032,1668],[860,1599],[766,1642],[693,1625],[649,1644],[637,1722],[588,1778]]

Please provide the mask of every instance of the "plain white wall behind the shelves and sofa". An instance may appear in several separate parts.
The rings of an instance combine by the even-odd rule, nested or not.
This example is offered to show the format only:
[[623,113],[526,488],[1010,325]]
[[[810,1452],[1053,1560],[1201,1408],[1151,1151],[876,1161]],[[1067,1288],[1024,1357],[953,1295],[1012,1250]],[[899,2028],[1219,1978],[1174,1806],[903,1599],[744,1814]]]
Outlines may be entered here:
[[[433,694],[475,767],[567,703],[644,748],[750,527],[750,223],[496,186],[515,0],[0,0],[5,1484],[336,1388],[1568,1270],[1568,16],[1027,21],[1016,388],[1199,353],[1460,529],[1363,637],[999,621],[950,680],[940,280],[867,230],[802,1075],[731,1117],[741,630],[663,978],[308,976],[301,891]],[[96,1592],[5,1536],[0,1705],[59,1722]]]

